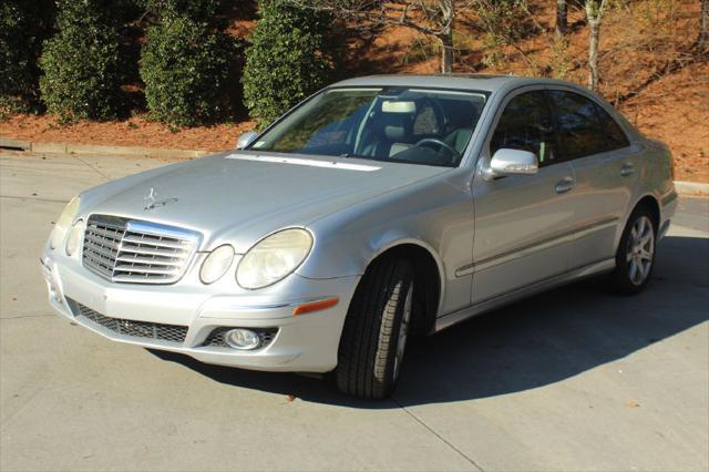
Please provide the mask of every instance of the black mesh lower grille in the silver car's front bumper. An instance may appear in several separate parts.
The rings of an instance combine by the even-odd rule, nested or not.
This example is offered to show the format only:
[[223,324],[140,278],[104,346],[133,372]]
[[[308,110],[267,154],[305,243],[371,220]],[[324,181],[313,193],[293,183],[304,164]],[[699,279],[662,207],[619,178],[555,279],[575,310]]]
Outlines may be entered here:
[[161,341],[181,345],[185,341],[185,337],[187,336],[186,326],[111,318],[74,300],[69,300],[69,302],[74,308],[74,315],[76,318],[86,318],[90,321],[115,332],[116,335],[132,336],[134,338],[158,339]]

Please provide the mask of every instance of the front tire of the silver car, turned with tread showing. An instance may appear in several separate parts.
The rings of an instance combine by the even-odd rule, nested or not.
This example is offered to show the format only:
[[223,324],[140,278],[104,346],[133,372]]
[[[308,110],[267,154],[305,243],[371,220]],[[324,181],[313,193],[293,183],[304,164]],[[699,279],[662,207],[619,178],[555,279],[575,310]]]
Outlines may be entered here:
[[336,370],[340,391],[382,399],[394,389],[413,311],[413,265],[387,257],[374,261],[350,302]]

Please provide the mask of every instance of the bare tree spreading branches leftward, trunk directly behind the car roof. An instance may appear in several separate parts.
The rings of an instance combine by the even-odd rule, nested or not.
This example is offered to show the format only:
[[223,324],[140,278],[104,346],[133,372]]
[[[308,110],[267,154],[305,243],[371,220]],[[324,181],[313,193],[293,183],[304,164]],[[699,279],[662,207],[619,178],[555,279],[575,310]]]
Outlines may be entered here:
[[411,28],[441,45],[441,72],[453,71],[453,27],[456,13],[472,10],[475,0],[287,0],[331,12],[360,29]]

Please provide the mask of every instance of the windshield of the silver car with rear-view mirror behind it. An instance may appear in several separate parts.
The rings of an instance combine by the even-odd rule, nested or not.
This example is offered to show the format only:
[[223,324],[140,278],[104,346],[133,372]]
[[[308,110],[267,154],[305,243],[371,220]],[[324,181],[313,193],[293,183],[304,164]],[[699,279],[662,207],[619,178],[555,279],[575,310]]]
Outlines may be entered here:
[[455,167],[485,99],[432,89],[330,89],[248,148]]

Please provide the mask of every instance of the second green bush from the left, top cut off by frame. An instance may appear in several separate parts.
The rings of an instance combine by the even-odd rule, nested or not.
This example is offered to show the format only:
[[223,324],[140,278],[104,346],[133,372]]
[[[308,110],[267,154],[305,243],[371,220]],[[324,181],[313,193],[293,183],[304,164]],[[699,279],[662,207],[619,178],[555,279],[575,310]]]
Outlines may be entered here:
[[60,0],[44,42],[42,100],[60,120],[110,120],[122,110],[120,12],[111,0]]

